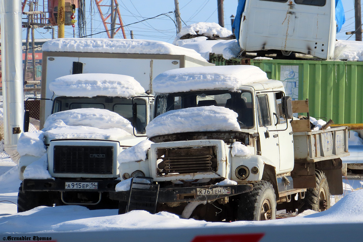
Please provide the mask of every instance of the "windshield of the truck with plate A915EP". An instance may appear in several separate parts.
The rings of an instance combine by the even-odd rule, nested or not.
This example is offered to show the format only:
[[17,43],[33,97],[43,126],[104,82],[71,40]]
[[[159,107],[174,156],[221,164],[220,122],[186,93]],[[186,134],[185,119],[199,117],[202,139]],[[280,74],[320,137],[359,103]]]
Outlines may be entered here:
[[[134,98],[136,103],[137,118],[134,123],[136,132],[145,133],[146,126],[146,101]],[[55,112],[76,108],[100,108],[116,112],[132,123],[132,100],[127,98],[108,97],[57,97],[53,102],[52,114]]]

